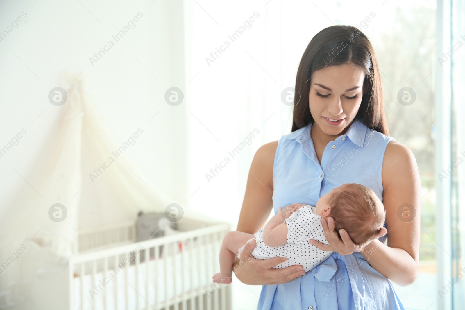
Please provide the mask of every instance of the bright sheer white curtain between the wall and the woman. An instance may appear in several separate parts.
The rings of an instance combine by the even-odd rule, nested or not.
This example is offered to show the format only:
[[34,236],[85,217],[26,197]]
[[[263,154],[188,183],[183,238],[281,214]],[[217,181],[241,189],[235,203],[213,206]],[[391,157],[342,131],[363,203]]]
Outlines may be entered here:
[[291,132],[292,106],[281,93],[295,86],[313,35],[331,25],[316,10],[275,0],[186,1],[188,203],[234,229],[253,155]]

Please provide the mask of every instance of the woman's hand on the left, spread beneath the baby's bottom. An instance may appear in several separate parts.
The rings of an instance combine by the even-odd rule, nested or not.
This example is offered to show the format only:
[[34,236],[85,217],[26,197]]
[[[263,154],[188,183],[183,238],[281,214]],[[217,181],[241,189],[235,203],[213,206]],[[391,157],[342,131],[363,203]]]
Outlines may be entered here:
[[[240,263],[234,261],[233,271],[240,282],[249,285],[279,284],[290,282],[305,274],[302,265],[292,265],[283,269],[272,268],[287,260],[286,257],[257,259],[252,256],[257,241],[247,243],[240,252]],[[237,256],[236,256],[237,257]]]

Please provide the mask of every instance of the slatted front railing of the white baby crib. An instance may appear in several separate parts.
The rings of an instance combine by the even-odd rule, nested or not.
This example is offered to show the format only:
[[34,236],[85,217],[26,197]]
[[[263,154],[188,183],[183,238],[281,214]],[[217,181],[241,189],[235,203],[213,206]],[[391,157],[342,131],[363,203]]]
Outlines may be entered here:
[[182,222],[178,234],[72,258],[70,309],[230,310],[230,285],[211,278],[230,225]]

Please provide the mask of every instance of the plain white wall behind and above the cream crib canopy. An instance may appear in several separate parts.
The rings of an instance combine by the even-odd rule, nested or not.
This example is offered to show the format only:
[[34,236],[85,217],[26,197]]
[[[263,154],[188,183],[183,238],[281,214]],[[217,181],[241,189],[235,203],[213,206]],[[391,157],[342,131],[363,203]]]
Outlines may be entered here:
[[[27,181],[20,175],[56,117],[48,92],[58,86],[63,70],[84,71],[93,104],[117,143],[144,130],[127,156],[153,191],[184,204],[186,105],[164,100],[169,87],[185,88],[182,1],[35,1],[0,4],[0,32],[27,14],[0,42],[0,147],[21,128],[27,130],[0,158],[0,208],[13,186]],[[114,40],[138,12],[143,17],[135,27]],[[89,58],[109,40],[114,46],[91,64]]]

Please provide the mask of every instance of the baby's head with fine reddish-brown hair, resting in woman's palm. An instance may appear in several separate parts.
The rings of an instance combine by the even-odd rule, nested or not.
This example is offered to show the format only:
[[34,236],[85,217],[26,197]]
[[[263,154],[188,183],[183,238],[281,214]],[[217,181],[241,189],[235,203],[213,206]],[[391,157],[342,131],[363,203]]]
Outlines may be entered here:
[[335,231],[345,229],[354,244],[364,245],[379,234],[385,221],[383,203],[370,188],[346,183],[321,196],[316,213],[323,218],[332,217]]

